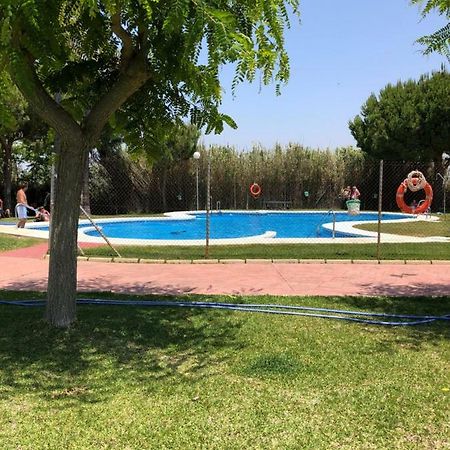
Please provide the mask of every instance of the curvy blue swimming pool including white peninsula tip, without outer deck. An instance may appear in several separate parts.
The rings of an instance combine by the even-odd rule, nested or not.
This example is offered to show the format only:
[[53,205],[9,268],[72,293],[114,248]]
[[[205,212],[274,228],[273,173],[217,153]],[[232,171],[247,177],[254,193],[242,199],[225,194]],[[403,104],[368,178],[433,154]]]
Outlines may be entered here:
[[[351,229],[356,222],[376,221],[377,213],[361,213],[349,216],[346,212],[269,212],[269,211],[223,211],[210,216],[212,240],[235,241],[240,239],[317,239],[334,236],[360,237],[367,232]],[[410,215],[383,213],[382,220],[408,220]],[[143,241],[200,241],[205,239],[206,214],[183,212],[170,213],[161,218],[99,219],[103,233],[114,240]],[[346,226],[343,226],[346,224]],[[350,227],[349,227],[350,226]],[[98,237],[99,233],[90,223],[80,224],[80,233],[86,237]],[[370,234],[369,234],[370,235]]]

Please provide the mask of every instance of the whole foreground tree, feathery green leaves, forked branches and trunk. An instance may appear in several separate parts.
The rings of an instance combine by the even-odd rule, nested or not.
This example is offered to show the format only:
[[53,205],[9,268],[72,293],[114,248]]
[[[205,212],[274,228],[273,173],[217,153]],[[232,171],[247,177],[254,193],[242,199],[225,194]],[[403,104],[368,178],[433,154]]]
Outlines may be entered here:
[[[137,137],[188,118],[207,132],[219,111],[219,69],[279,85],[289,77],[284,29],[299,0],[0,0],[0,60],[61,137],[47,319],[75,320],[76,235],[83,167],[104,126]],[[54,96],[61,94],[61,102]]]

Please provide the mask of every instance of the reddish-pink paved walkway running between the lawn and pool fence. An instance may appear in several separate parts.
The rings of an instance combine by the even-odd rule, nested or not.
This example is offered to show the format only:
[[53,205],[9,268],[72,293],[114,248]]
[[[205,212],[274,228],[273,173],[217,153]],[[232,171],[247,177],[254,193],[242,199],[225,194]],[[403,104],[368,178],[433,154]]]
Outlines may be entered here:
[[[46,290],[46,244],[0,254],[0,289]],[[136,264],[79,261],[78,289],[129,294],[450,295],[450,261]]]

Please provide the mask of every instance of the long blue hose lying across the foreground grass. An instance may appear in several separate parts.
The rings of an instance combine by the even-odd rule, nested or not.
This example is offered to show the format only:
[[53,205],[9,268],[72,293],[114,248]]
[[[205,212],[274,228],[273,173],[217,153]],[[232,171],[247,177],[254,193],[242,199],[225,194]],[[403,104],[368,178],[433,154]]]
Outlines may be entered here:
[[[42,307],[43,300],[0,300],[1,305],[14,305],[24,307]],[[281,314],[290,316],[316,317],[322,319],[346,320],[368,325],[384,326],[415,326],[435,321],[450,321],[450,314],[443,316],[418,316],[411,314],[387,314],[363,311],[348,311],[341,309],[314,308],[309,306],[288,306],[277,304],[243,304],[220,302],[184,302],[184,301],[147,301],[147,300],[102,300],[82,298],[77,300],[79,305],[106,305],[106,306],[141,306],[141,307],[169,307],[169,308],[207,308],[225,309],[230,311],[258,312],[264,314]],[[313,311],[313,312],[305,312]],[[331,314],[323,314],[331,313]],[[336,315],[338,314],[338,315]],[[356,317],[355,317],[356,316]],[[358,317],[359,316],[359,317]],[[404,319],[401,321],[373,320],[365,317],[384,319]]]

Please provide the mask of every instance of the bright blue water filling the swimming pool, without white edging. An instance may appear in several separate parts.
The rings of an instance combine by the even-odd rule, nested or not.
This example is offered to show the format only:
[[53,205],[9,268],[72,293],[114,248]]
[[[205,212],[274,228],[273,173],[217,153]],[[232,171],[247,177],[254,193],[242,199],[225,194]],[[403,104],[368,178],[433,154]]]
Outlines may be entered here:
[[[161,219],[120,222],[99,222],[103,233],[109,238],[132,239],[167,239],[190,240],[205,239],[204,213],[192,214],[192,219]],[[345,212],[336,213],[336,221],[376,221],[376,213],[363,213],[349,216]],[[382,220],[407,219],[402,214],[384,213]],[[236,213],[222,212],[211,215],[211,239],[233,239],[262,235],[267,231],[274,231],[277,238],[317,238],[331,237],[331,231],[322,227],[330,223],[333,217],[329,213],[276,213],[254,212]],[[90,224],[83,225],[88,227]],[[86,231],[90,236],[98,236],[95,230]],[[343,236],[343,235],[341,235]],[[348,235],[345,235],[349,237]],[[336,237],[340,237],[336,234]]]

